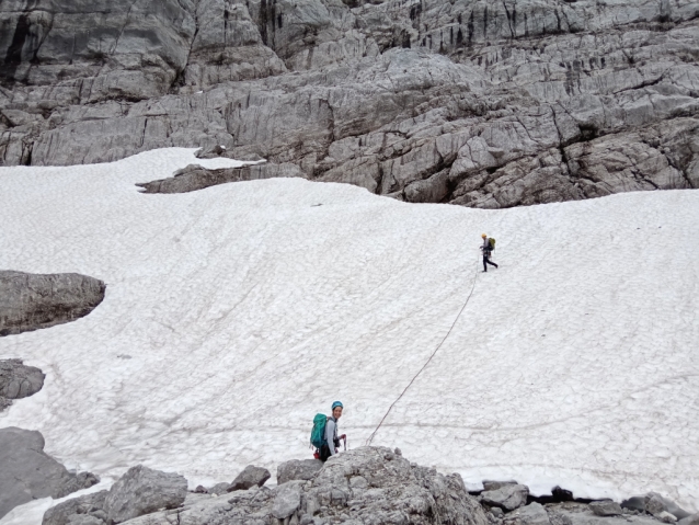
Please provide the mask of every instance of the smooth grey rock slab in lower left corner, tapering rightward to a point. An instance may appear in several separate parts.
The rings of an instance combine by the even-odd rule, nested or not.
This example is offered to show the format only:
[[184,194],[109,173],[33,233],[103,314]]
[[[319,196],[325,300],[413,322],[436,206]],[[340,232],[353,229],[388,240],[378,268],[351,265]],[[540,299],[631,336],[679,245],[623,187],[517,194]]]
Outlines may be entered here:
[[0,429],[0,517],[32,500],[64,498],[98,482],[90,472],[69,472],[44,453],[39,432]]

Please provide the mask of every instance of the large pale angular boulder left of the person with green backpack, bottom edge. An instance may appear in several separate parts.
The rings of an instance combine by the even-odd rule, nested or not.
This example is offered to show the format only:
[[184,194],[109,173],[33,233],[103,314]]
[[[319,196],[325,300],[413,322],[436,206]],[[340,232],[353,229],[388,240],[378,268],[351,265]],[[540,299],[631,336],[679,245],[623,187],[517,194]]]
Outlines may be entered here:
[[176,509],[187,495],[187,480],[173,472],[131,467],[104,500],[107,521],[122,523],[160,509]]

